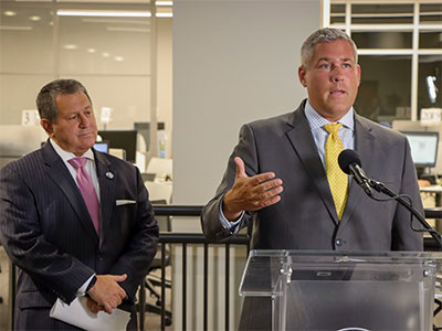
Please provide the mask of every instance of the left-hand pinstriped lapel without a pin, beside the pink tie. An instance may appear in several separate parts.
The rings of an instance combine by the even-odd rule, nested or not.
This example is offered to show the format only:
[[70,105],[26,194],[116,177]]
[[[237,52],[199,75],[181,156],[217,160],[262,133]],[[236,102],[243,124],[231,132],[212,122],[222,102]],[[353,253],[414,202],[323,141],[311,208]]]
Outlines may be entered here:
[[[46,145],[43,147],[42,152],[43,161],[50,168],[48,171],[49,177],[54,181],[55,185],[57,185],[62,190],[62,192],[66,196],[66,200],[75,211],[78,221],[86,229],[86,233],[94,242],[98,243],[98,236],[95,232],[91,215],[87,211],[87,206],[84,203],[82,193],[75,184],[75,181],[67,170],[66,166],[64,164],[63,160],[49,142],[46,142]],[[66,217],[66,220],[69,220],[69,217]]]

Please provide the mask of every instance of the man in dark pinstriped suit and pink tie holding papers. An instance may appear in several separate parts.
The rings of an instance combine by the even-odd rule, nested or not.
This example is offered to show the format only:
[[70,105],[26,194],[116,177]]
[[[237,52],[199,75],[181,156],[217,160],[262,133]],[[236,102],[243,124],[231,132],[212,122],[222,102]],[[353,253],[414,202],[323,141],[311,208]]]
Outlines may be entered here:
[[[0,172],[0,238],[20,268],[14,329],[76,329],[50,318],[50,309],[57,298],[87,295],[95,313],[130,311],[128,329],[136,330],[135,295],[158,241],[141,175],[94,150],[97,127],[81,83],[51,82],[36,105],[46,143]],[[71,163],[77,158],[83,169]],[[92,195],[84,195],[84,178]]]

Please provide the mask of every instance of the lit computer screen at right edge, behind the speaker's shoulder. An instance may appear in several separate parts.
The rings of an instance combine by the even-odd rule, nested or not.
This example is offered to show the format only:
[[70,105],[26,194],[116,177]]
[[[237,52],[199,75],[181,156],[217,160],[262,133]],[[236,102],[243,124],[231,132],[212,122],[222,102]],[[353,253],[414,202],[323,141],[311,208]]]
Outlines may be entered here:
[[439,132],[402,131],[411,147],[417,168],[434,167],[438,160]]

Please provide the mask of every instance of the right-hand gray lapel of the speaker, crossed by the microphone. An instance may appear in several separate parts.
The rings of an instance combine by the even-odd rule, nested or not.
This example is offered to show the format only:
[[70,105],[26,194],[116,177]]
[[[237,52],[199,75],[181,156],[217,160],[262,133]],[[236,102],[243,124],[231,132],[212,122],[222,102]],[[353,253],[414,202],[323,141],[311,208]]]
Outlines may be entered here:
[[[355,150],[358,152],[362,169],[370,169],[371,162],[375,162],[372,156],[375,154],[375,141],[376,138],[371,134],[371,128],[364,124],[361,117],[355,113]],[[368,173],[369,177],[369,173]],[[344,211],[340,226],[344,226],[349,220],[351,214],[357,209],[360,200],[366,195],[361,188],[351,180],[350,188],[348,190],[348,199],[346,209]]]

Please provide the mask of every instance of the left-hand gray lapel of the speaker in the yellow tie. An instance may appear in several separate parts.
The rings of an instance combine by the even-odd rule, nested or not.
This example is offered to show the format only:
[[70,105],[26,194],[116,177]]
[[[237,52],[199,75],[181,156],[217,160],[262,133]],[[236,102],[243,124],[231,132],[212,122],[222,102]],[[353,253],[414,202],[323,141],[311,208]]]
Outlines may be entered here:
[[323,162],[320,161],[315,140],[313,139],[311,127],[304,114],[304,106],[305,102],[293,113],[293,117],[290,120],[290,125],[293,126],[293,129],[288,130],[286,135],[295,152],[299,157],[305,171],[317,188],[319,196],[326,205],[328,213],[332,215],[333,221],[338,224],[338,215],[336,214],[327,175]]

